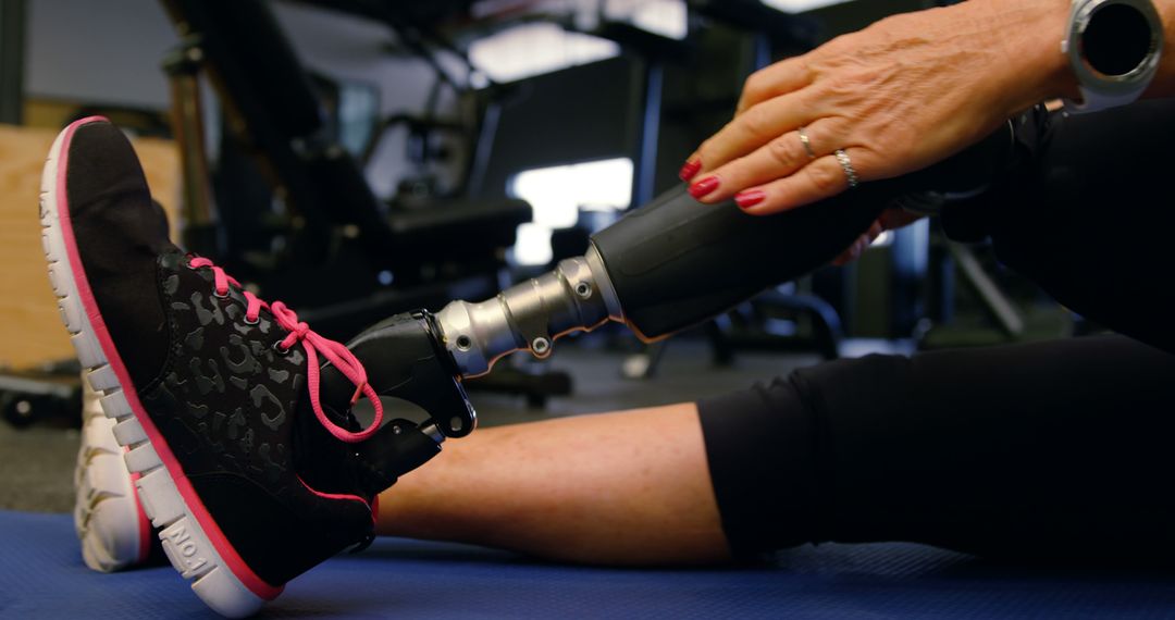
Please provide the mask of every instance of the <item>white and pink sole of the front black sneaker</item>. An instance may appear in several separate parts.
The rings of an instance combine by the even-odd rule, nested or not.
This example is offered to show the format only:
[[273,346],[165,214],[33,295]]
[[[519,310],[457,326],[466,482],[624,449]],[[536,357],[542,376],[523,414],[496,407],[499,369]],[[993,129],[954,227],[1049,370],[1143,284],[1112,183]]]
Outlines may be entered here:
[[[115,439],[129,449],[127,469],[140,476],[135,480],[139,499],[152,524],[162,528],[159,537],[172,566],[192,581],[196,595],[221,615],[251,615],[267,600],[277,597],[281,588],[266,584],[249,570],[192,490],[167,443],[139,403],[101,312],[94,306],[89,284],[82,279],[79,285],[74,272],[75,265],[80,271],[81,263],[73,232],[66,230],[68,224],[62,221],[62,217],[68,218],[68,211],[63,207],[65,181],[58,173],[67,164],[73,133],[95,120],[102,119],[83,119],[61,132],[41,175],[41,240],[61,321],[70,333],[86,382],[103,395],[100,403],[106,417],[114,420]],[[79,275],[85,278],[83,274]],[[214,545],[213,540],[220,544]]]

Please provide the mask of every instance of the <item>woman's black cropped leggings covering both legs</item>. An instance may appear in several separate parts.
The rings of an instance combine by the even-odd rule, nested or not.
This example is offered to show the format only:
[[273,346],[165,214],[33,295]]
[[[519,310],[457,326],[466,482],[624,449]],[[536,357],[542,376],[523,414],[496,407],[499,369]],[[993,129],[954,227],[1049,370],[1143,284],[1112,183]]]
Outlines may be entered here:
[[[1015,174],[947,231],[1175,352],[1175,101],[1022,129]],[[1139,341],[871,356],[703,400],[727,538],[1175,558],[1175,357]]]

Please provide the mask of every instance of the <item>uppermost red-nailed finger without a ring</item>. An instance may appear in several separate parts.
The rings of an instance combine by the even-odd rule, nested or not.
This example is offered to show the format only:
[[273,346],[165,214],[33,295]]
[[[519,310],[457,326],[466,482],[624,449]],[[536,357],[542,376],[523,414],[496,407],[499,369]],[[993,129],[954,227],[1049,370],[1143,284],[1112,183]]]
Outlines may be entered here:
[[[726,123],[698,148],[700,169],[714,170],[724,163],[746,155],[771,140],[821,116],[805,105],[807,95],[790,93],[756,105]],[[693,160],[691,160],[693,161]]]

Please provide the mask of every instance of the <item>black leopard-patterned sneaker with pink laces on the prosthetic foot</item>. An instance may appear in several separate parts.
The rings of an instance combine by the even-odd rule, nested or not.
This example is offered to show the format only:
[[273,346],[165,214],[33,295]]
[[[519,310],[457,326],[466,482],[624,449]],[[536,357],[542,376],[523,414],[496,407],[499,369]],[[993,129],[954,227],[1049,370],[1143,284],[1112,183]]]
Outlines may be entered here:
[[[247,615],[370,540],[377,490],[351,473],[349,445],[382,412],[354,356],[173,245],[134,150],[105,119],[58,136],[40,203],[62,321],[196,594]],[[321,406],[320,356],[376,403],[368,430]]]

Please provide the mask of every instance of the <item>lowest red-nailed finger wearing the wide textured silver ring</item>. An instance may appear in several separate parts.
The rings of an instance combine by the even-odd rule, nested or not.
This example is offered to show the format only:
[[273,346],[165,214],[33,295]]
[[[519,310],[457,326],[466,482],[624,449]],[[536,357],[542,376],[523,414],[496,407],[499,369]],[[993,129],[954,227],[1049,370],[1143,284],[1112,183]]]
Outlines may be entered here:
[[[734,200],[740,202],[739,205],[748,214],[770,215],[835,196],[850,188],[850,173],[857,182],[865,181],[857,166],[860,160],[867,160],[867,153],[860,148],[844,149],[847,157],[844,163],[834,155],[817,157],[795,174],[743,190],[734,196]],[[761,196],[758,193],[761,193]],[[740,195],[744,198],[741,201]],[[758,200],[747,204],[748,195]]]

